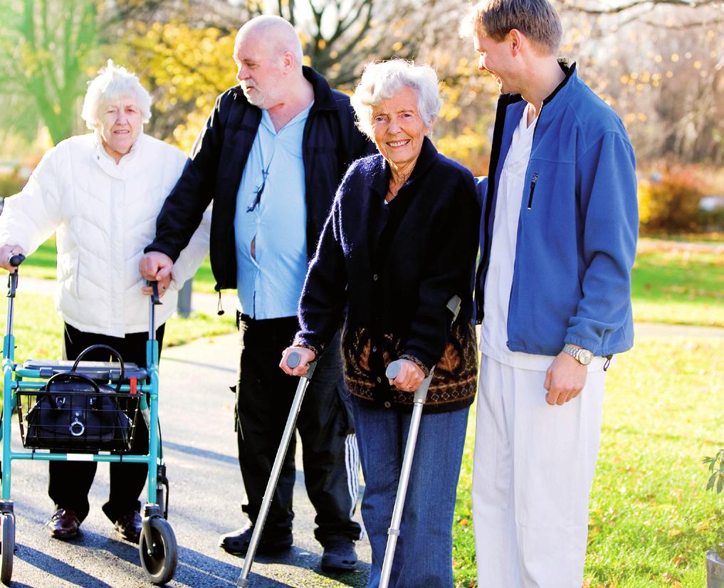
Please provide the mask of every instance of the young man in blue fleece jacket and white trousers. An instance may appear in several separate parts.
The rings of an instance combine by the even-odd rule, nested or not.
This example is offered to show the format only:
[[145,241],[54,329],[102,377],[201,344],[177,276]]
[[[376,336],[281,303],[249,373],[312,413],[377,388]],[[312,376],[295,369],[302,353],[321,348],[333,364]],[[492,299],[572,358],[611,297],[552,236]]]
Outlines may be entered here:
[[615,112],[557,59],[550,2],[484,0],[468,24],[501,94],[480,185],[478,582],[580,588],[605,370],[633,344],[636,162]]

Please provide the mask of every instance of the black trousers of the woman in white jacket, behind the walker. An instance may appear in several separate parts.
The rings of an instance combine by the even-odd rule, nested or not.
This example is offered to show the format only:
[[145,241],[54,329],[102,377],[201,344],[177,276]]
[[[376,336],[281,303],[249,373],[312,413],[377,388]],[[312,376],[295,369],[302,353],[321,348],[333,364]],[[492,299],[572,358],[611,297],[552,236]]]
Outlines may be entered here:
[[[156,338],[159,340],[159,355],[161,343],[164,340],[164,327],[156,329]],[[109,337],[98,333],[79,331],[70,324],[65,323],[63,334],[63,358],[75,359],[78,354],[90,345],[109,345],[120,353],[123,361],[146,367],[146,342],[148,332],[128,333],[125,337]],[[111,355],[107,351],[97,350],[88,353],[84,359],[89,361],[110,361]],[[145,455],[148,453],[148,427],[140,417],[136,421],[133,445],[130,453]],[[110,463],[111,492],[108,502],[103,505],[103,511],[111,521],[131,511],[140,511],[138,497],[146,484],[148,466],[145,463]],[[51,461],[49,462],[50,479],[48,495],[55,503],[56,510],[67,508],[75,511],[80,521],[88,516],[88,492],[96,476],[98,463],[95,461]]]

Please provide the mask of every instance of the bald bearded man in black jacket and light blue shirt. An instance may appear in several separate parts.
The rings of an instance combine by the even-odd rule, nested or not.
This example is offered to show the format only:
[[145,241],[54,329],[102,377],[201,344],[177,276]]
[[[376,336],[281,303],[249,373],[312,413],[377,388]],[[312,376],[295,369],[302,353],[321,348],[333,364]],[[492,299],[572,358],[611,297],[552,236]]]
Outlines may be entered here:
[[[256,17],[240,28],[234,46],[239,85],[216,99],[140,262],[148,280],[172,274],[213,201],[216,290],[235,288],[241,308],[236,432],[249,524],[223,535],[219,544],[238,555],[251,542],[294,396],[295,381],[277,364],[298,330],[308,262],[346,169],[373,149],[355,127],[349,98],[303,66],[302,58],[297,33],[280,17]],[[324,547],[321,567],[329,571],[355,568],[354,542],[361,532],[352,520],[358,458],[347,397],[337,333],[297,421],[306,489],[316,510],[314,533]],[[292,545],[294,445],[292,437],[261,555]]]

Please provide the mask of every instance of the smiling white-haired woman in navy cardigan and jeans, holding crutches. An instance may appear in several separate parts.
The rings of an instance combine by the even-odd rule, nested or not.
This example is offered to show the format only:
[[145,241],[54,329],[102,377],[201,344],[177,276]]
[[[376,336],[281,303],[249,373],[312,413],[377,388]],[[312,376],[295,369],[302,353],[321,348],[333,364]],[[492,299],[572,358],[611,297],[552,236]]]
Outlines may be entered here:
[[[346,308],[342,349],[366,484],[369,587],[382,573],[413,395],[434,368],[389,585],[452,587],[455,490],[477,377],[479,205],[470,172],[429,139],[441,106],[430,67],[368,64],[352,104],[379,155],[356,161],[337,190],[300,298],[300,330],[279,366],[306,373]],[[455,295],[462,304],[452,322],[446,305]],[[300,355],[293,369],[292,351]],[[388,379],[395,360],[400,369]]]

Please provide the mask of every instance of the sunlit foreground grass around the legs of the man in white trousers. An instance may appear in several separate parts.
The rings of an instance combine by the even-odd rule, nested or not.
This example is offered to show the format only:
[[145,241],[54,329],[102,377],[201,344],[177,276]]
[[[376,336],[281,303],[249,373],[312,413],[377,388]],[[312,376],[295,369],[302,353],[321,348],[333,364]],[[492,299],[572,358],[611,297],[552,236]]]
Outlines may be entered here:
[[[722,447],[724,340],[641,338],[607,377],[591,495],[590,587],[701,588],[724,541],[724,495],[701,461]],[[472,427],[472,424],[471,424]],[[455,511],[455,585],[476,586],[468,432]]]

